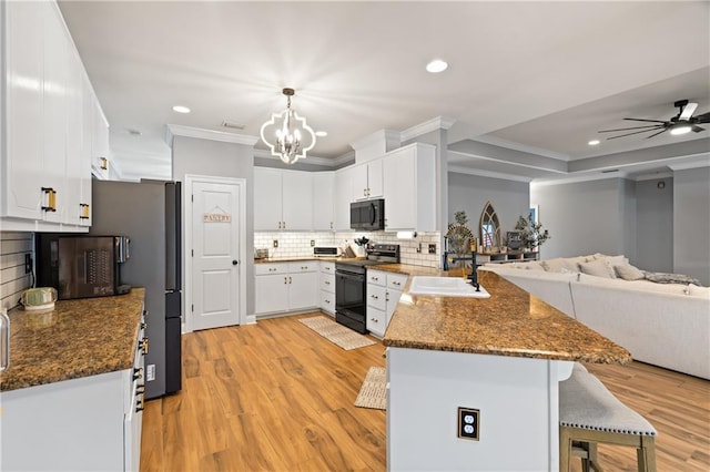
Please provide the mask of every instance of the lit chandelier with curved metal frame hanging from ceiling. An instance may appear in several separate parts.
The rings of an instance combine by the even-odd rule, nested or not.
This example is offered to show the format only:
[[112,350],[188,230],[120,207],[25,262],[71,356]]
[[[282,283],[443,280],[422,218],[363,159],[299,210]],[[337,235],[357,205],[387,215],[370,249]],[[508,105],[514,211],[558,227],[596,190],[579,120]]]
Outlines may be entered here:
[[271,153],[278,156],[285,164],[295,164],[306,157],[306,152],[315,146],[315,133],[306,124],[306,119],[298,116],[291,107],[293,89],[284,89],[286,110],[271,115],[271,120],[262,125],[262,141],[271,148]]

